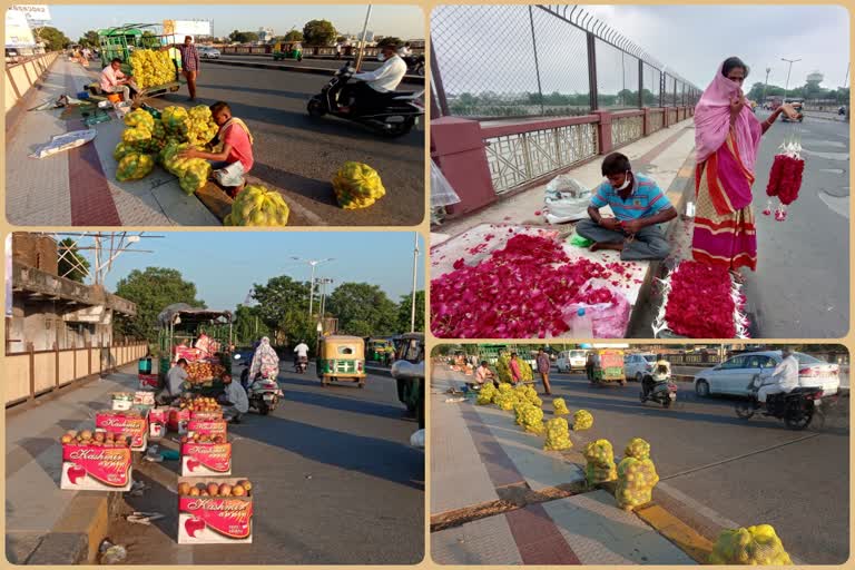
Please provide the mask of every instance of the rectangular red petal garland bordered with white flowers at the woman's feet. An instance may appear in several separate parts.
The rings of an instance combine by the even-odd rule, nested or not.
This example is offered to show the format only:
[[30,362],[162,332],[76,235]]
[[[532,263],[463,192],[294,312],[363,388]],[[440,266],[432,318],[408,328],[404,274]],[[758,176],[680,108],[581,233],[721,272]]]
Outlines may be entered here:
[[734,338],[737,308],[727,269],[686,261],[671,275],[665,320],[672,332],[689,338]]

